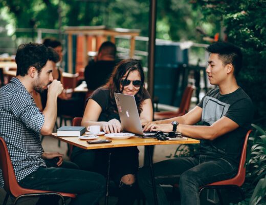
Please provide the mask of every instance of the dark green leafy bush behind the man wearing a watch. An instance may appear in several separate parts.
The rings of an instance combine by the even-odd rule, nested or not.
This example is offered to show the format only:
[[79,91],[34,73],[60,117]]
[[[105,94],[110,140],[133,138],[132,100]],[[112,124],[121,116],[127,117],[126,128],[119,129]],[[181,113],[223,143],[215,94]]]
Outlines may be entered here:
[[266,1],[197,0],[205,20],[216,19],[226,28],[228,41],[241,47],[243,68],[238,82],[253,100],[254,122],[265,128],[266,115]]

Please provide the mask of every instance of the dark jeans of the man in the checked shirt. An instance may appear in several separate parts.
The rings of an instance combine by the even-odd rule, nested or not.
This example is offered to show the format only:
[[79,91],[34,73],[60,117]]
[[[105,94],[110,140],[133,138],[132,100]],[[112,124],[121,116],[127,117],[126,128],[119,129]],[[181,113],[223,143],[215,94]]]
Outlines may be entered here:
[[97,204],[105,191],[102,175],[77,169],[40,167],[18,183],[28,189],[75,193],[77,196],[71,205]]

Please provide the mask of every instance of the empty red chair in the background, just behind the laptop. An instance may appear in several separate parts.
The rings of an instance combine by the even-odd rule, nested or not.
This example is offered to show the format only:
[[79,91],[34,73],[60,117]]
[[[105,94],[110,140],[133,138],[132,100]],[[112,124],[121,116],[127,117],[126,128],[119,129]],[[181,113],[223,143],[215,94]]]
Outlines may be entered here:
[[177,111],[161,111],[161,112],[154,112],[154,120],[160,119],[168,119],[172,117],[178,117],[186,114],[189,110],[191,97],[193,94],[195,87],[192,85],[188,85],[185,89],[182,100],[180,103],[180,108]]

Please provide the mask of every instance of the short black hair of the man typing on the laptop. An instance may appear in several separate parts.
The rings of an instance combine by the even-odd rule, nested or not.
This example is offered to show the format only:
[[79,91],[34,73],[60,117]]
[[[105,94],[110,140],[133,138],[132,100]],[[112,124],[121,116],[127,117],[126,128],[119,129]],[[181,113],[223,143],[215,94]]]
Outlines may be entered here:
[[223,65],[232,64],[234,75],[237,76],[242,67],[242,53],[239,47],[226,42],[214,43],[206,49],[210,53],[217,53]]

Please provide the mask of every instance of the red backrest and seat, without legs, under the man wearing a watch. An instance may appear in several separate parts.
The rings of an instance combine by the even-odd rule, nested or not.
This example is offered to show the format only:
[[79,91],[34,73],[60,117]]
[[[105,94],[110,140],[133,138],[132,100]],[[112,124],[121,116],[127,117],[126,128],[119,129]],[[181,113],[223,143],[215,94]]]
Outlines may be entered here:
[[235,175],[234,178],[231,179],[227,179],[224,181],[217,181],[214,183],[211,183],[208,186],[213,186],[213,185],[237,185],[238,187],[241,187],[245,181],[245,177],[246,177],[246,154],[247,154],[247,144],[248,144],[248,139],[249,139],[249,135],[252,132],[252,130],[249,130],[246,134],[245,137],[245,141],[243,144],[243,148],[242,148],[242,152],[241,152],[241,156],[240,156],[240,162],[239,162],[239,166],[238,166],[238,172]]

